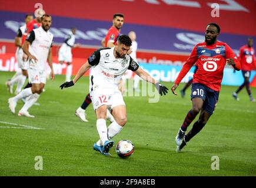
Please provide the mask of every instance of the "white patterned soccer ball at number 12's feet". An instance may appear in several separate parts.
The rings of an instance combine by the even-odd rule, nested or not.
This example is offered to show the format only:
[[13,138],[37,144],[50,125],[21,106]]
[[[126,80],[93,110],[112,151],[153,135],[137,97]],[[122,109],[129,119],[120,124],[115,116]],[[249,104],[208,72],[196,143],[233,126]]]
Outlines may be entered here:
[[119,157],[125,159],[134,153],[134,145],[129,140],[121,140],[117,143],[115,151]]

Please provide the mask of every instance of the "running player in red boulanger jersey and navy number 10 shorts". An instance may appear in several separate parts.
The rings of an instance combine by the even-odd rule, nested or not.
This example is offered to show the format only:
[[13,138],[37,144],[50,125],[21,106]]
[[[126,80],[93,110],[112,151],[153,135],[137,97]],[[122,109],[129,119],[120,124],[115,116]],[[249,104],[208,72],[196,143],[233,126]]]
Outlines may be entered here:
[[[220,26],[214,23],[207,25],[205,42],[195,45],[172,86],[172,93],[177,95],[175,89],[188,73],[188,70],[194,63],[197,63],[198,70],[193,76],[191,88],[192,109],[189,110],[175,137],[177,152],[180,152],[186,143],[200,132],[214,112],[218,102],[225,65],[231,65],[235,70],[240,70],[240,63],[230,46],[227,43],[217,41],[219,35]],[[199,119],[185,135],[187,127],[199,112]]]

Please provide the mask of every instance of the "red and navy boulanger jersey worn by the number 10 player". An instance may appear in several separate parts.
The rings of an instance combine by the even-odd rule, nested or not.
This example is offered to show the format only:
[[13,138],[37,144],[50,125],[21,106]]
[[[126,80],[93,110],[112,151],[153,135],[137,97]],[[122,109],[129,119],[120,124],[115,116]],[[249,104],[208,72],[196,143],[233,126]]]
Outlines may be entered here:
[[187,62],[183,65],[175,83],[181,82],[188,70],[197,63],[198,70],[194,74],[193,83],[202,83],[208,88],[217,92],[221,89],[221,81],[223,78],[226,59],[232,58],[235,66],[240,69],[240,63],[230,46],[224,42],[207,45],[205,42],[195,45]]

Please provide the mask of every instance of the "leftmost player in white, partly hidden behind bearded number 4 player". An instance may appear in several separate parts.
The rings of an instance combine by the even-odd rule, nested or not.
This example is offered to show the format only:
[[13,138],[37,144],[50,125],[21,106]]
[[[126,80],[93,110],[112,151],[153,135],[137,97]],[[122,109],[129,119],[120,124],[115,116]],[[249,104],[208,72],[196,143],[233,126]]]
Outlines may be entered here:
[[[18,62],[18,65],[23,64],[23,62],[22,62],[23,61],[23,59],[22,59],[23,51],[22,51],[21,38],[22,38],[22,35],[25,33],[26,24],[28,24],[32,19],[33,19],[32,14],[27,14],[25,16],[25,24],[22,25],[21,27],[19,27],[19,29],[17,31],[17,35],[15,37],[15,46],[17,46],[15,56],[16,56],[16,61]],[[6,82],[6,86],[9,90],[9,93],[11,93],[11,94],[13,93],[12,88],[15,83],[17,83],[15,95],[17,95],[19,92],[21,92],[21,89],[22,89],[22,86],[24,85],[25,80],[26,80],[26,76],[24,76],[22,74],[21,69],[18,69],[17,72],[15,73],[15,75],[12,77],[12,79],[8,80]]]

